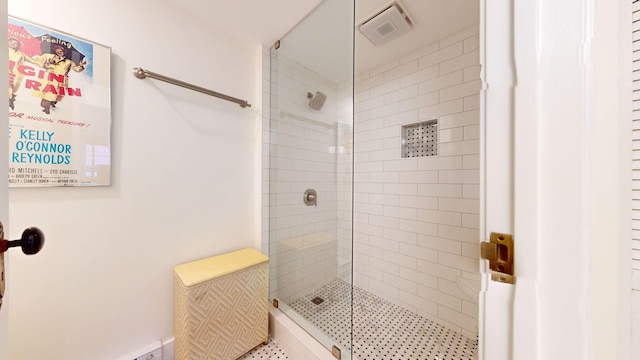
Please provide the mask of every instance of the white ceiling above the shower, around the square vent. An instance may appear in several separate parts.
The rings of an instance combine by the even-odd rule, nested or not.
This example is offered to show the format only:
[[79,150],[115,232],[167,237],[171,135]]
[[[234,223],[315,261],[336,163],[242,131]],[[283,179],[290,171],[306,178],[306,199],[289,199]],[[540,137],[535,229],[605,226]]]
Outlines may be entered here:
[[[286,51],[287,55],[335,81],[344,80],[345,76],[350,74],[350,20],[353,9],[349,7],[348,1],[163,1],[241,41],[271,45],[274,41],[282,39],[280,51]],[[356,26],[392,2],[393,0],[356,0]],[[401,55],[477,24],[479,19],[479,0],[397,2],[413,21],[414,28],[380,47],[374,46],[356,31],[356,74],[388,63]],[[303,19],[305,21],[302,21]],[[298,24],[300,26],[296,27]],[[347,60],[348,65],[345,64]]]

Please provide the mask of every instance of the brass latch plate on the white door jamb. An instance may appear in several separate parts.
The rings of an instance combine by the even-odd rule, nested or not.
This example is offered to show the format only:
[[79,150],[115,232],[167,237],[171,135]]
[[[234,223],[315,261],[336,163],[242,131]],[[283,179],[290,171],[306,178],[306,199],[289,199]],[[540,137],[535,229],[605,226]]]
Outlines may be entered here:
[[489,241],[480,243],[480,257],[489,260],[491,280],[515,284],[513,273],[513,235],[491,233]]

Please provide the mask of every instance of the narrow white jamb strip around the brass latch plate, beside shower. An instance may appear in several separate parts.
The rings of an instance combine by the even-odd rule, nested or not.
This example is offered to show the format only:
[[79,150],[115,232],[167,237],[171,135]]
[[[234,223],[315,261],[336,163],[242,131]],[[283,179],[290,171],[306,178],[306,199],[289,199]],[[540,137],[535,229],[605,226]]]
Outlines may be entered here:
[[[490,232],[513,234],[513,64],[512,1],[480,2],[480,241]],[[517,245],[516,245],[517,246]],[[514,286],[492,282],[480,260],[480,360],[510,360]]]

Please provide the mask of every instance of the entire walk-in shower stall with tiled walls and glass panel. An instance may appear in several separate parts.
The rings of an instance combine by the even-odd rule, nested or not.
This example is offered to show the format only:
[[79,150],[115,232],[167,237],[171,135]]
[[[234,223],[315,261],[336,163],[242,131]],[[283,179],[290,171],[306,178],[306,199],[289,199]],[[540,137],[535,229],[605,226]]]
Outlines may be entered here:
[[[403,37],[430,31],[423,0],[402,1],[411,29],[382,45],[356,24],[384,9],[325,0],[270,49],[269,297],[342,359],[477,349],[478,3],[447,1],[475,22],[403,52]],[[359,58],[377,47],[377,64]]]

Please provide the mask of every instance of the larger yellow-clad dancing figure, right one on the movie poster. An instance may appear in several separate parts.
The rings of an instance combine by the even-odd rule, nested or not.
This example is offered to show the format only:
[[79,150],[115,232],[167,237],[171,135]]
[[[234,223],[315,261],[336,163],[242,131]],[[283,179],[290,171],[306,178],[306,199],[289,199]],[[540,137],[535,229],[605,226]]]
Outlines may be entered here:
[[[61,45],[53,46],[53,53],[45,53],[38,57],[38,61],[42,61],[42,67],[47,71],[45,76],[46,83],[45,89],[60,89],[68,88],[69,86],[69,72],[71,70],[75,72],[84,71],[87,61],[82,59],[79,64],[74,63],[71,59],[67,58],[66,50]],[[42,100],[40,106],[45,114],[51,112],[51,108],[55,108],[56,105],[62,101],[63,94],[59,94],[53,91],[37,91],[37,96]]]

